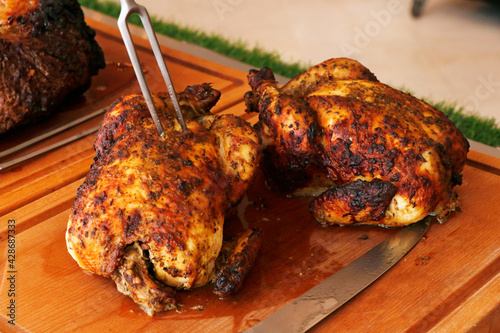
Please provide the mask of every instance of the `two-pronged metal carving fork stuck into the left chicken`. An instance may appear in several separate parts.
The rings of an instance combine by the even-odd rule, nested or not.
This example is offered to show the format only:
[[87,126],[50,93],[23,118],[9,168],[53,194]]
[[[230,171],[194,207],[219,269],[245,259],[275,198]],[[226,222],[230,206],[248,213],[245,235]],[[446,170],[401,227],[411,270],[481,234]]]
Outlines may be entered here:
[[132,36],[130,34],[130,30],[127,25],[127,19],[131,14],[138,14],[141,18],[142,25],[146,30],[146,35],[148,36],[149,43],[151,44],[151,48],[153,49],[153,53],[156,57],[156,62],[158,63],[158,67],[160,67],[160,71],[163,75],[163,79],[167,85],[168,93],[172,100],[172,104],[174,105],[175,113],[177,115],[177,120],[181,125],[182,131],[185,132],[187,130],[186,122],[184,121],[184,117],[181,113],[181,108],[179,106],[179,101],[177,99],[177,94],[175,93],[174,86],[172,84],[172,80],[170,79],[170,74],[168,73],[167,66],[165,65],[165,60],[163,59],[163,55],[161,54],[160,46],[158,44],[158,39],[156,38],[156,34],[153,30],[153,26],[151,25],[151,20],[149,18],[148,11],[144,6],[137,4],[134,0],[120,0],[121,4],[121,12],[118,17],[118,29],[120,29],[120,33],[123,38],[123,42],[125,43],[125,47],[127,48],[128,55],[130,57],[130,61],[132,62],[132,66],[134,67],[135,75],[137,80],[139,81],[139,85],[142,90],[142,94],[144,95],[144,99],[146,100],[146,104],[148,105],[149,112],[151,113],[151,117],[153,117],[153,121],[158,129],[158,133],[160,136],[165,135],[165,131],[163,130],[163,126],[158,119],[158,114],[156,112],[156,107],[153,103],[153,98],[151,97],[151,92],[149,91],[148,83],[146,82],[146,78],[144,77],[144,72],[142,71],[141,63],[139,62],[139,57],[137,56],[137,50],[135,49],[134,42],[132,41]]

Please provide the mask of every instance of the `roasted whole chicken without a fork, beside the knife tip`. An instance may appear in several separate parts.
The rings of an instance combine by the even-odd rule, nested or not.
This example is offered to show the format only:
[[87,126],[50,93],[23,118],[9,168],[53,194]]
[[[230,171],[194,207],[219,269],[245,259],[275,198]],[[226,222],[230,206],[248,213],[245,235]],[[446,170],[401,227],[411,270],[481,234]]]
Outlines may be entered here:
[[392,227],[429,214],[444,221],[458,210],[454,186],[469,144],[441,111],[347,58],[282,87],[269,68],[251,70],[248,80],[268,183],[317,196],[311,212],[320,223]]

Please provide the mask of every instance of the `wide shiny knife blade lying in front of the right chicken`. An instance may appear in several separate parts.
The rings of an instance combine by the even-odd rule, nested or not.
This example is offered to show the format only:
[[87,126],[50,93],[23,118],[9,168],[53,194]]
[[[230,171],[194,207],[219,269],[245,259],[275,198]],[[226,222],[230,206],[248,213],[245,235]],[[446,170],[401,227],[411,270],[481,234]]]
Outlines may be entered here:
[[427,232],[430,217],[402,228],[337,273],[245,332],[305,332],[403,258]]

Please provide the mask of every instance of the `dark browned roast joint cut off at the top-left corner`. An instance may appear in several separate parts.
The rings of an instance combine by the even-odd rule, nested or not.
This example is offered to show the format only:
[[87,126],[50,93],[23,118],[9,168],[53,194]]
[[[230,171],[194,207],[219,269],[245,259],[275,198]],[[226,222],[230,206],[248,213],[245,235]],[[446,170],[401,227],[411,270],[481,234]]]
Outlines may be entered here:
[[0,1],[0,134],[55,112],[104,68],[77,0]]

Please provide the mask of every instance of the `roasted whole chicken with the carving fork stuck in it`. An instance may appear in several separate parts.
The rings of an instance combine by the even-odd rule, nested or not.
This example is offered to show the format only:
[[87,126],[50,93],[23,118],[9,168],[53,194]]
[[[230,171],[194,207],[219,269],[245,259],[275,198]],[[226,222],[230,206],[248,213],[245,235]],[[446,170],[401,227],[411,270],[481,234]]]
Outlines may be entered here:
[[176,307],[175,289],[213,282],[217,295],[235,293],[260,246],[258,229],[223,241],[225,214],[250,186],[260,148],[250,124],[210,114],[219,96],[208,84],[180,93],[182,132],[168,94],[155,94],[164,137],[142,95],[114,103],[71,210],[69,253],[150,315]]

